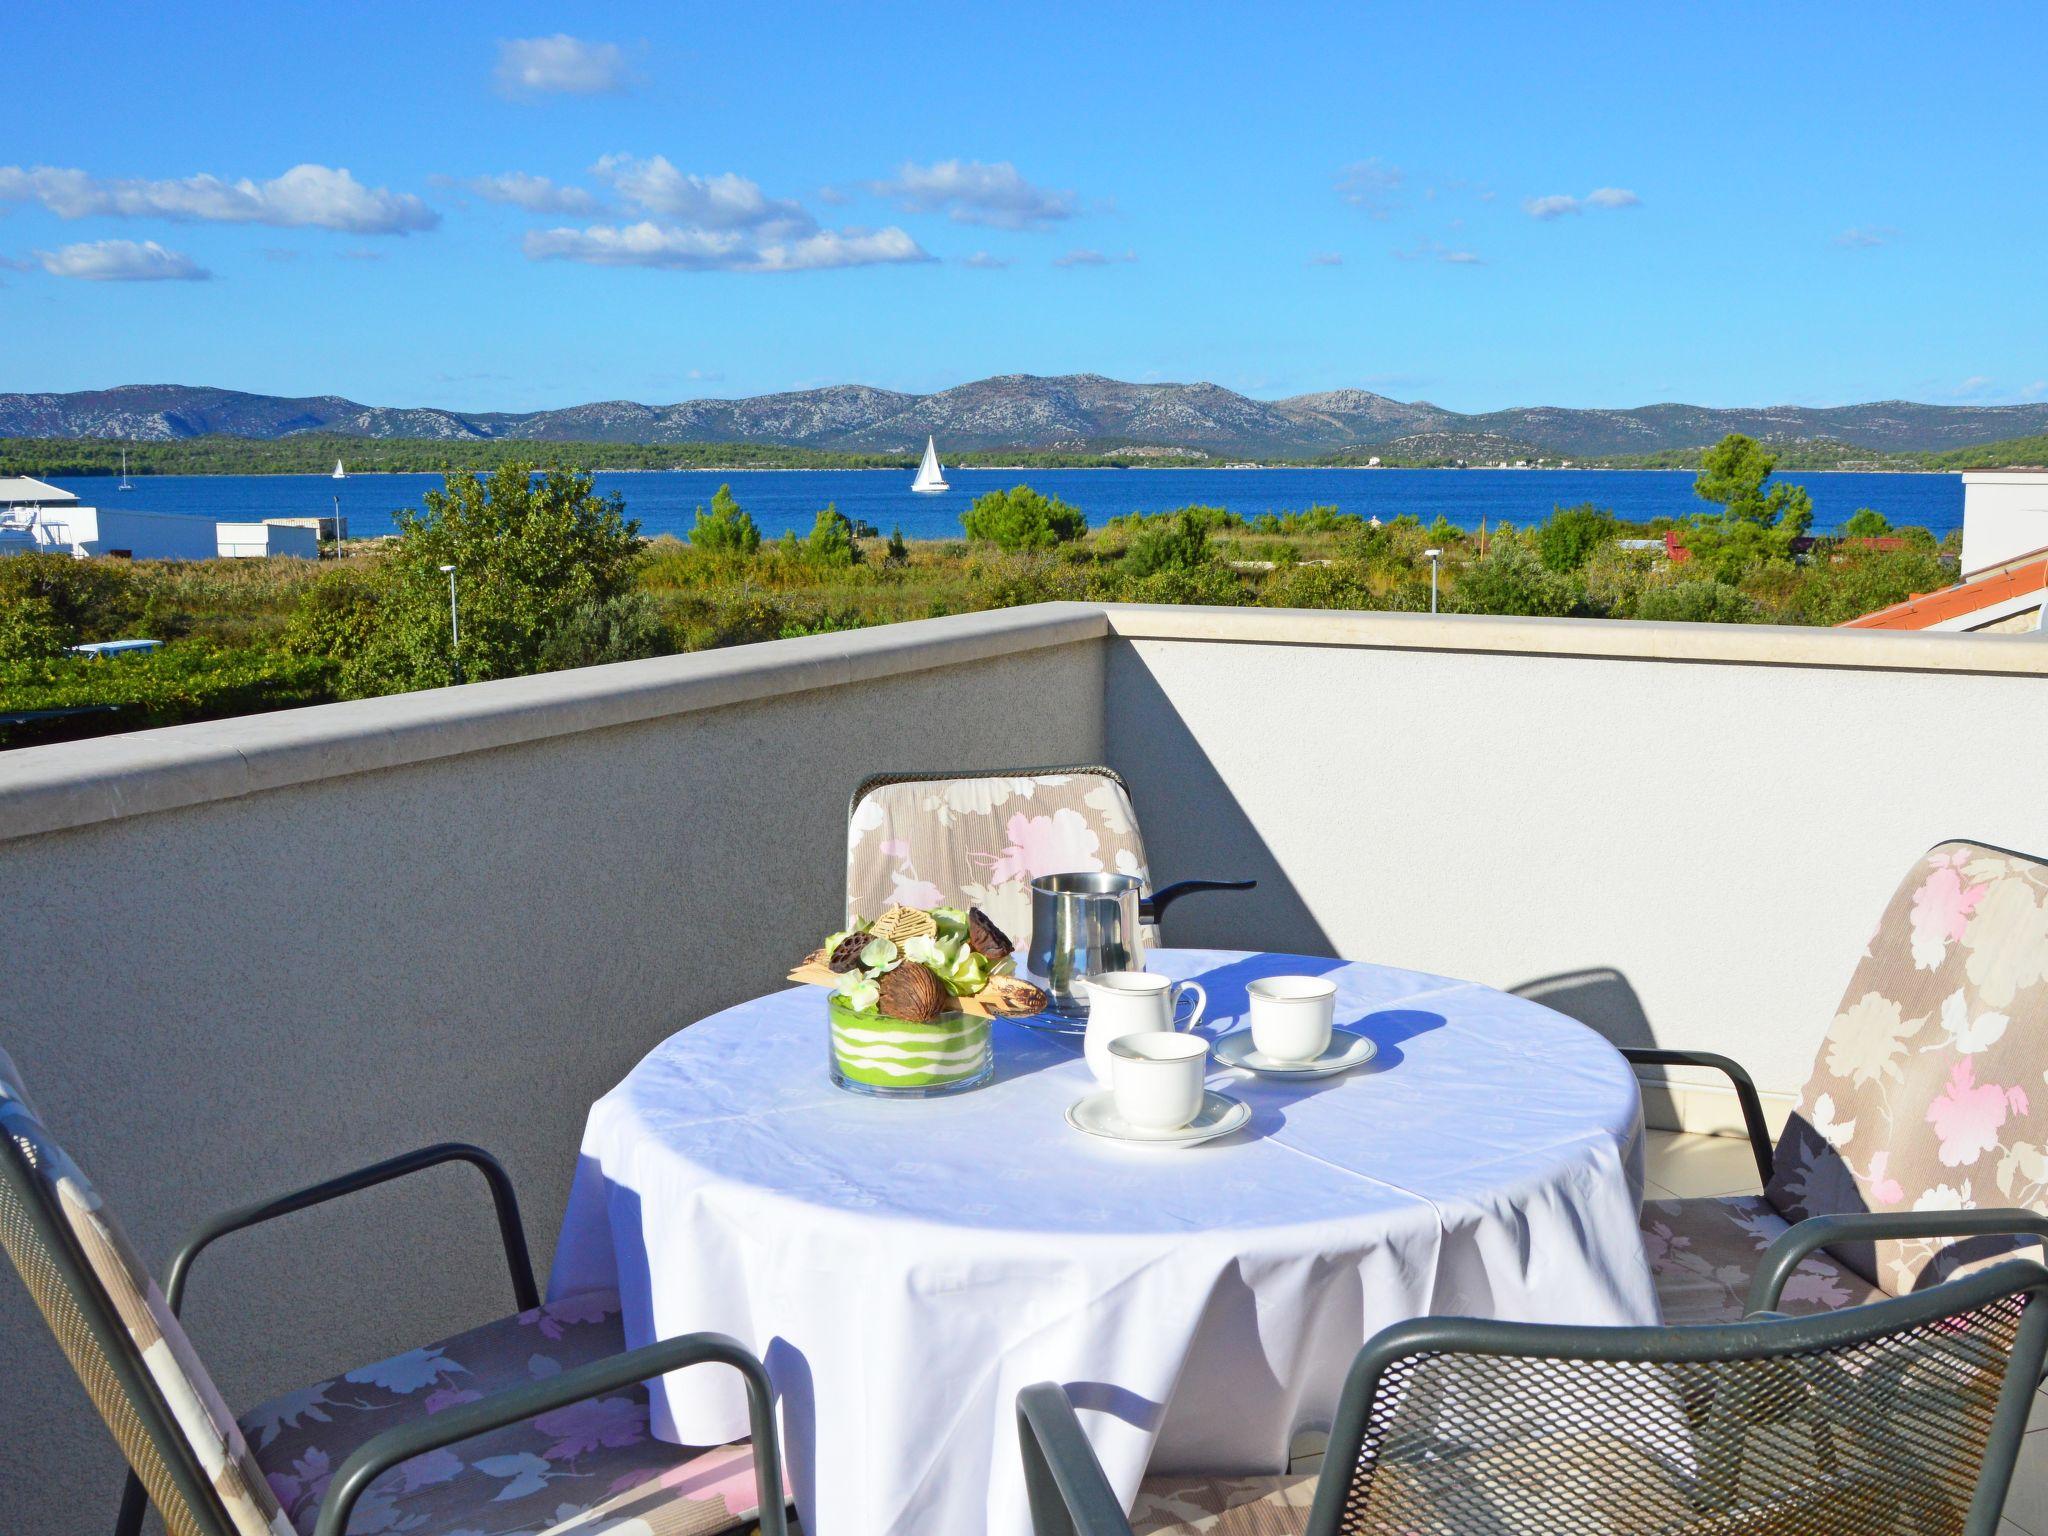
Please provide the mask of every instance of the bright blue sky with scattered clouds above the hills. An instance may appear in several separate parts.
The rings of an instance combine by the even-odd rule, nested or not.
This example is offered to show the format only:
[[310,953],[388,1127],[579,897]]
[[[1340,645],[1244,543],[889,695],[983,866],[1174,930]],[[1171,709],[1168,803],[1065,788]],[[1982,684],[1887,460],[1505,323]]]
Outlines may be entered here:
[[2032,4],[20,6],[0,389],[2040,399],[2044,45]]

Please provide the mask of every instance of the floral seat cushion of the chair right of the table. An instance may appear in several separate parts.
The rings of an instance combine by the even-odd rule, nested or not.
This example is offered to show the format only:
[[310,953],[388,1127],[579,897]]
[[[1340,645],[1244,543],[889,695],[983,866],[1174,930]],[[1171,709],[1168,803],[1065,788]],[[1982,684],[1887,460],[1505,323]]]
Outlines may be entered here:
[[[1642,1245],[1663,1321],[1741,1323],[1757,1260],[1790,1223],[1755,1194],[1722,1200],[1645,1200]],[[1882,1292],[1827,1253],[1810,1253],[1786,1282],[1778,1311],[1804,1317],[1882,1300]]]

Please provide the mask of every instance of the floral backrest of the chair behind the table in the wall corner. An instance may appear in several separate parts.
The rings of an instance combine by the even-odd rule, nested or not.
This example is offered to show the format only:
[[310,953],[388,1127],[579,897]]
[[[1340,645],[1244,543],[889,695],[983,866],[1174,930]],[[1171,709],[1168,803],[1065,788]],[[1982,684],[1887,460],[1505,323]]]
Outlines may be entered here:
[[850,920],[981,907],[1024,948],[1032,879],[1075,870],[1151,879],[1130,791],[1110,768],[874,774],[848,809]]

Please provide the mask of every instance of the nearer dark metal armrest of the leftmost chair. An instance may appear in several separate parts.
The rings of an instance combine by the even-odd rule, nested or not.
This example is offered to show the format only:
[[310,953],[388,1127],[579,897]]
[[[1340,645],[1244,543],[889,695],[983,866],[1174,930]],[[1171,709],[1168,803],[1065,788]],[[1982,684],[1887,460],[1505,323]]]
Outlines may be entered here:
[[774,1389],[768,1384],[768,1370],[737,1339],[723,1333],[684,1333],[678,1339],[659,1339],[643,1350],[627,1350],[610,1360],[594,1360],[588,1366],[565,1370],[559,1376],[492,1393],[479,1403],[442,1409],[424,1419],[385,1430],[381,1436],[356,1446],[334,1473],[328,1497],[319,1503],[319,1522],[313,1536],[342,1536],[348,1530],[348,1516],[354,1513],[371,1483],[389,1473],[399,1462],[424,1456],[430,1450],[455,1446],[508,1423],[520,1423],[539,1413],[549,1413],[588,1397],[616,1393],[653,1376],[666,1376],[684,1366],[721,1364],[741,1374],[748,1386],[748,1421],[754,1436],[754,1477],[760,1489],[760,1536],[788,1536],[786,1499],[782,1495],[782,1452],[776,1444]]

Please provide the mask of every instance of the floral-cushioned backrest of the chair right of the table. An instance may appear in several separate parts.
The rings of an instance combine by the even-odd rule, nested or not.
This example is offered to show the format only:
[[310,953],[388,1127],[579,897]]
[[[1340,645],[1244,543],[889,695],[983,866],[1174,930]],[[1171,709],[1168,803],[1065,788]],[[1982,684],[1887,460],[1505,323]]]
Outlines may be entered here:
[[[2048,1210],[2048,864],[1970,842],[1921,858],[1849,977],[1765,1196],[1788,1221]],[[1905,1294],[2003,1239],[1843,1247]]]

